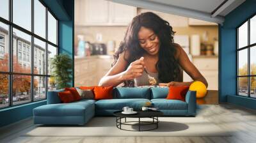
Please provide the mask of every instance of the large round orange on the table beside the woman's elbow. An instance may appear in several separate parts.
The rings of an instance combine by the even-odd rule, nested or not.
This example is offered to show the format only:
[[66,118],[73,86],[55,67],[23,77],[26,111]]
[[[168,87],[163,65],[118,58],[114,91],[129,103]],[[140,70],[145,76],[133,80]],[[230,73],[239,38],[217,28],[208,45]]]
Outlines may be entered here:
[[190,91],[196,91],[196,98],[204,98],[207,88],[203,82],[195,81],[189,86]]

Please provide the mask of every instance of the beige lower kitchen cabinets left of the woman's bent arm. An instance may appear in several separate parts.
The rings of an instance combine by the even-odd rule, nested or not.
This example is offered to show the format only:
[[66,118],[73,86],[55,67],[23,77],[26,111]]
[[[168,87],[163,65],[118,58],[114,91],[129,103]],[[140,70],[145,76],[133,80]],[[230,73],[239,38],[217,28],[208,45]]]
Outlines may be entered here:
[[75,87],[97,86],[113,61],[113,56],[75,58]]

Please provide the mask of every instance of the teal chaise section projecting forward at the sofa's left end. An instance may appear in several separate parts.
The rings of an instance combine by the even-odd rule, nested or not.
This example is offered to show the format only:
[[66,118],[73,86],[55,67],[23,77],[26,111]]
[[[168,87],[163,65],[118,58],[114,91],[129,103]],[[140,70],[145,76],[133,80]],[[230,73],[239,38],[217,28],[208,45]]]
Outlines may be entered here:
[[85,124],[95,115],[94,100],[47,104],[33,109],[35,124]]

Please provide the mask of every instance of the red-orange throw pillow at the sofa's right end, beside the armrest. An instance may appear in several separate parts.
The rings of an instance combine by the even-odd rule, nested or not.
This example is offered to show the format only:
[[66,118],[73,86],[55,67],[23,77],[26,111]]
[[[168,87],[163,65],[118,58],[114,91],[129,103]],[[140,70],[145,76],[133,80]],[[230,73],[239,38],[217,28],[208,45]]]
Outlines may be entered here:
[[169,93],[167,95],[168,100],[182,100],[185,102],[186,93],[188,92],[189,86],[170,86]]

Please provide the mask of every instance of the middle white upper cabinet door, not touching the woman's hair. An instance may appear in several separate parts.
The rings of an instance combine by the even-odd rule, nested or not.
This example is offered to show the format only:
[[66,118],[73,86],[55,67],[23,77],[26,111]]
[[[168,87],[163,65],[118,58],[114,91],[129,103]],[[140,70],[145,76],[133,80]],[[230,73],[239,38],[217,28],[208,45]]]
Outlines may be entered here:
[[108,1],[102,0],[86,0],[84,1],[85,10],[80,10],[80,14],[84,13],[85,25],[106,24],[109,22]]

